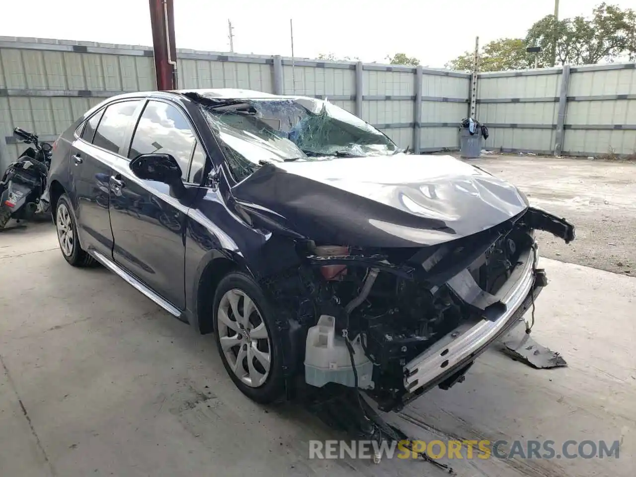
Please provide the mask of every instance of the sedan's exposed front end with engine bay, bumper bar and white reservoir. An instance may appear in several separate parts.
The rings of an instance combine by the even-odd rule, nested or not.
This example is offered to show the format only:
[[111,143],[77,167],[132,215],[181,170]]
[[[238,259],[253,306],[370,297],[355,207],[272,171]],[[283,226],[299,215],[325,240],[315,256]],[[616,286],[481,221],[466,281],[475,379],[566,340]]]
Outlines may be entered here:
[[[289,346],[305,346],[298,354],[308,384],[359,387],[380,409],[397,410],[435,385],[448,389],[462,380],[476,356],[534,303],[547,284],[534,230],[574,239],[569,223],[529,208],[430,247],[298,240],[300,263],[263,281],[292,323],[280,321]],[[453,340],[455,350],[445,344]]]

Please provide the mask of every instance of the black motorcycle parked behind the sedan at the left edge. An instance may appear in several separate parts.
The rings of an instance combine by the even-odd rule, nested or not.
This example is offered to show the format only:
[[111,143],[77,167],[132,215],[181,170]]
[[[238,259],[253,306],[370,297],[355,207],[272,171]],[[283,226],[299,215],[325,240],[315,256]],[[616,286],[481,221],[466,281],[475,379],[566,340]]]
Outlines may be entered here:
[[48,142],[39,142],[37,135],[21,128],[15,128],[13,135],[34,147],[25,149],[0,179],[0,228],[9,219],[30,220],[36,214],[49,212],[40,197],[46,189],[53,148]]

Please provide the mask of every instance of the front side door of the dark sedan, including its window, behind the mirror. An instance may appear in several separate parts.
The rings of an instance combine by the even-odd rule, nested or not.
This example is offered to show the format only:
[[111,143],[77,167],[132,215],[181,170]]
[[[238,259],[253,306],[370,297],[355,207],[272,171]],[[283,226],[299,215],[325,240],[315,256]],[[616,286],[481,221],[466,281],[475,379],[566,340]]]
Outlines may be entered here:
[[186,214],[190,204],[174,197],[167,184],[134,176],[129,161],[140,154],[176,158],[188,183],[196,144],[187,114],[176,104],[148,100],[135,127],[128,158],[113,164],[118,186],[111,187],[113,258],[172,305],[183,310]]

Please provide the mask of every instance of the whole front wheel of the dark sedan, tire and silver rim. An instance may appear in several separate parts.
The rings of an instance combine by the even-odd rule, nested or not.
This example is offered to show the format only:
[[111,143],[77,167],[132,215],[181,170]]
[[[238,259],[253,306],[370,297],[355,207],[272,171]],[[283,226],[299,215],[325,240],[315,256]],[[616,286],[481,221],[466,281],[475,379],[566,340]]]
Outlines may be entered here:
[[261,288],[248,275],[232,272],[214,296],[214,335],[232,381],[245,396],[271,403],[283,387],[279,332]]

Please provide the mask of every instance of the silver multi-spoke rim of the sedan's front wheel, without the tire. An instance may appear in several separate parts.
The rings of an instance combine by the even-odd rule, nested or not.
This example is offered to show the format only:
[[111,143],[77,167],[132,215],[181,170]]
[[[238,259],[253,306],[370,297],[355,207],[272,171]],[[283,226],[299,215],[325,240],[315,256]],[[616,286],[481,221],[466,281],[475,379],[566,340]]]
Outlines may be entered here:
[[226,291],[217,310],[217,329],[235,375],[249,387],[263,385],[270,373],[272,347],[261,312],[247,293]]

